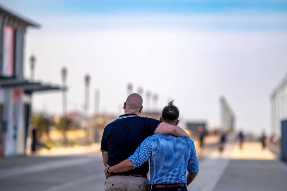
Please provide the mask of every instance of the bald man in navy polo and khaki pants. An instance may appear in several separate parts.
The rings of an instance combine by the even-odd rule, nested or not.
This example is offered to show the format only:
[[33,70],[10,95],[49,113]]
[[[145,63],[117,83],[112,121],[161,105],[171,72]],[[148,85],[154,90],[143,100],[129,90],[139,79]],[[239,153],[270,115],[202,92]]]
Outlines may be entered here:
[[[180,127],[152,118],[139,117],[143,109],[143,98],[137,93],[128,96],[123,104],[124,115],[108,124],[103,133],[101,152],[103,164],[113,166],[132,155],[145,138],[155,133],[189,137]],[[148,161],[141,167],[127,172],[114,173],[107,178],[105,190],[148,190]]]

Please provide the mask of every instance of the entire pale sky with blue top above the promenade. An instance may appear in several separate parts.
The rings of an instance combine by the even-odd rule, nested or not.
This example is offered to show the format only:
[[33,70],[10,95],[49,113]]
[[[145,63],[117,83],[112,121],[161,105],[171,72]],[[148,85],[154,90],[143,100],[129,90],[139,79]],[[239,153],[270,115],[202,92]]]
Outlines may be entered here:
[[[236,128],[269,132],[269,95],[287,72],[287,1],[277,0],[0,0],[41,25],[29,27],[28,58],[35,79],[61,84],[68,68],[68,110],[83,110],[84,75],[91,75],[100,111],[122,114],[126,85],[175,100],[181,121],[220,125],[219,97],[236,114]],[[145,96],[144,109],[147,107]],[[62,112],[60,92],[35,93],[33,110]]]

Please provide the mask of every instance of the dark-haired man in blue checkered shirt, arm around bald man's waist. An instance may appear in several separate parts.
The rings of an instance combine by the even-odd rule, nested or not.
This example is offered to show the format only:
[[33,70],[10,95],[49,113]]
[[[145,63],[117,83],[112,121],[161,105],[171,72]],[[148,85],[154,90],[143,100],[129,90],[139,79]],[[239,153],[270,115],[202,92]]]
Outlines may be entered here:
[[[170,102],[162,110],[160,120],[177,125],[178,116],[178,108]],[[115,166],[106,167],[106,177],[137,169],[149,159],[151,191],[186,191],[186,186],[199,172],[196,150],[190,138],[156,134],[146,138],[128,159]],[[187,176],[186,169],[189,172]]]

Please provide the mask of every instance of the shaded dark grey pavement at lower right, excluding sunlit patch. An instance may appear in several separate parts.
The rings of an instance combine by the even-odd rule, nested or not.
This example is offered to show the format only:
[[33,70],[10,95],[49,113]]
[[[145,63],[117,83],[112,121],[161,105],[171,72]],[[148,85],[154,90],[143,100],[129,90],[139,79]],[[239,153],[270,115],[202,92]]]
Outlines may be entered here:
[[272,160],[231,160],[214,191],[286,191],[283,165]]

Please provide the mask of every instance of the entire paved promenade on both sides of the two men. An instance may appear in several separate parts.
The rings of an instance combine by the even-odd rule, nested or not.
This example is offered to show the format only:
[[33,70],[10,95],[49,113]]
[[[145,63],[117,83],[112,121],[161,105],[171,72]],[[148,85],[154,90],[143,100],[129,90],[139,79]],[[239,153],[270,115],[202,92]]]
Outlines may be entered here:
[[[246,143],[240,151],[227,144],[222,154],[210,150],[199,161],[200,173],[188,190],[286,190],[287,165],[259,143]],[[0,159],[1,191],[95,191],[105,182],[99,153],[61,157]]]

